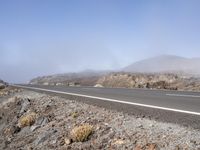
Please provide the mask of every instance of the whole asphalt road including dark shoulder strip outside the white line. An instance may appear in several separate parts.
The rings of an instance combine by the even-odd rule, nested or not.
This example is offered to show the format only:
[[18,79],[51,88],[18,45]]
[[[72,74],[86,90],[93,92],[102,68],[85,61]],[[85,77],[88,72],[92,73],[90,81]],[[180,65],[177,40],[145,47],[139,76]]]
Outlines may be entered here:
[[[168,90],[16,85],[56,95],[68,95],[134,115],[154,116],[161,121],[200,129],[200,93]],[[72,97],[69,97],[72,96]],[[78,97],[78,98],[77,98]]]

